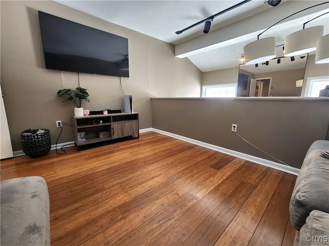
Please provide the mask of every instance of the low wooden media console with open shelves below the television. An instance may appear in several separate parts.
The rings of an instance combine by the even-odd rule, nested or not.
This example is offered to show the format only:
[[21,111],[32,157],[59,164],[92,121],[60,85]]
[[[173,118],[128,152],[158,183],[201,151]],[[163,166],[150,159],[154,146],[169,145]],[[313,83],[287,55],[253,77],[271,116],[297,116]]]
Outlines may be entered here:
[[138,113],[72,116],[72,125],[79,151],[139,138]]

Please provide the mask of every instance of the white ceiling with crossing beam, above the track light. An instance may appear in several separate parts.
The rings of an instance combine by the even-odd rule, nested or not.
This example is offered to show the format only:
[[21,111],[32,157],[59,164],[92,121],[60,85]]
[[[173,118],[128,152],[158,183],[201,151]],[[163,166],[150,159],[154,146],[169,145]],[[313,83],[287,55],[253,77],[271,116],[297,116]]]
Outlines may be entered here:
[[[282,1],[277,7],[271,7],[264,0],[252,0],[240,7],[214,18],[209,34],[203,33],[204,24],[200,24],[182,34],[175,32],[182,30],[210,15],[227,9],[242,0],[228,1],[60,1],[65,6],[94,15],[108,22],[138,31],[140,33],[171,43],[180,50],[189,52],[179,57],[188,57],[202,72],[238,67],[243,47],[257,39],[257,35],[283,17],[325,1]],[[308,4],[308,5],[307,5]],[[287,6],[286,8],[284,8]],[[296,6],[296,7],[295,7]],[[293,9],[292,9],[293,8]],[[261,37],[275,36],[277,45],[284,43],[284,37],[302,29],[303,23],[328,12],[329,4],[322,5],[268,30]],[[312,11],[313,10],[313,11]],[[277,13],[276,13],[277,11]],[[269,18],[257,19],[257,16]],[[283,16],[283,17],[280,17]],[[317,18],[307,24],[307,27],[324,25],[327,34],[329,14]],[[248,24],[248,21],[250,25]],[[256,22],[251,22],[257,20]],[[227,33],[230,27],[234,38],[223,38],[221,33]],[[241,27],[239,27],[241,26]],[[258,28],[259,26],[259,28]],[[225,29],[226,28],[226,29]],[[246,31],[248,34],[246,34]],[[216,31],[215,31],[216,30]],[[223,30],[223,32],[222,32]],[[214,32],[215,31],[215,32]],[[217,35],[218,41],[214,39]],[[208,39],[208,40],[207,40]],[[212,39],[212,40],[211,40]],[[222,40],[220,40],[222,39]],[[179,45],[178,45],[179,44]],[[191,48],[192,47],[192,48]],[[292,63],[291,63],[292,64]]]

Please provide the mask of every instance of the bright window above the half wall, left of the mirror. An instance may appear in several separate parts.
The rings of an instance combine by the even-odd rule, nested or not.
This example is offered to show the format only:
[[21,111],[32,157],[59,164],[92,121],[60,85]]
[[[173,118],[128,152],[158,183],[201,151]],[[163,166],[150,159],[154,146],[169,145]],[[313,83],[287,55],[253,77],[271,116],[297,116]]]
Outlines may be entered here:
[[237,83],[202,86],[202,97],[235,97]]

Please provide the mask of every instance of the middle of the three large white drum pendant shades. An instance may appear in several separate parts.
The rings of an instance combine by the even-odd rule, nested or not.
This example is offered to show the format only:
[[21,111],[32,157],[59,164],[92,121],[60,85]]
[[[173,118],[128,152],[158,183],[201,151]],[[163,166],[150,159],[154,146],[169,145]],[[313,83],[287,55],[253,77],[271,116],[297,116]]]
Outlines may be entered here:
[[317,40],[323,36],[323,26],[305,28],[286,36],[284,56],[306,54],[317,49]]

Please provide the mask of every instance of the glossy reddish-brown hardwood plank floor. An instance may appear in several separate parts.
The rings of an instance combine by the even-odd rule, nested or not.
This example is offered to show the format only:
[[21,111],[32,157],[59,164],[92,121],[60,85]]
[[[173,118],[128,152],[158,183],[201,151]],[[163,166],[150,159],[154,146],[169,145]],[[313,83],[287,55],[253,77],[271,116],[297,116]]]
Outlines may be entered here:
[[42,176],[51,245],[293,245],[296,176],[154,132],[67,154],[1,161]]

